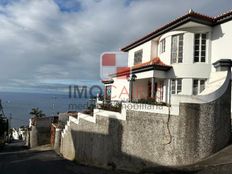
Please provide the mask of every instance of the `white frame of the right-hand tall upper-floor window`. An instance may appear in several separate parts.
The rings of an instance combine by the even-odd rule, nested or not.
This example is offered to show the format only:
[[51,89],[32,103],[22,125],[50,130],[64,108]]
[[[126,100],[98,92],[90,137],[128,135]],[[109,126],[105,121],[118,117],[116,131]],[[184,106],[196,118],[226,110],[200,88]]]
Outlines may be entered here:
[[[199,43],[197,45],[196,45],[196,41],[197,41],[196,35],[199,35],[199,39],[198,39]],[[205,37],[203,38],[203,36]],[[205,42],[204,44],[203,44],[203,41]],[[208,41],[208,33],[194,33],[194,45],[193,45],[193,62],[194,63],[206,63],[207,45],[208,45],[207,41]],[[202,53],[204,53],[205,55],[202,56],[203,55]]]

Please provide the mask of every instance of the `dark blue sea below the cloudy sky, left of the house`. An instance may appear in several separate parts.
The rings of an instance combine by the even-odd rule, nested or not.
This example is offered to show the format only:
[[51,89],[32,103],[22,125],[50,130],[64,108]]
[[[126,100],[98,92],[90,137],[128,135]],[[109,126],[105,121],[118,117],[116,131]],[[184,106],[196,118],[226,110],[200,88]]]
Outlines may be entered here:
[[11,126],[20,127],[28,125],[32,108],[38,107],[47,116],[56,115],[58,112],[81,111],[87,108],[89,99],[69,98],[65,94],[32,94],[0,92],[3,110],[7,117],[12,117]]

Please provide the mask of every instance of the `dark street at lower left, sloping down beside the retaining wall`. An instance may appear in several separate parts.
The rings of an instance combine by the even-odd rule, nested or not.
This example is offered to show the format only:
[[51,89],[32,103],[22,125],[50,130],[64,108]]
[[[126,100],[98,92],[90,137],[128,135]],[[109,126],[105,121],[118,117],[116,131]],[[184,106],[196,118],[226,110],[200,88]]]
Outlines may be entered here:
[[22,142],[6,145],[0,152],[0,174],[118,174],[74,164],[49,147],[28,150]]

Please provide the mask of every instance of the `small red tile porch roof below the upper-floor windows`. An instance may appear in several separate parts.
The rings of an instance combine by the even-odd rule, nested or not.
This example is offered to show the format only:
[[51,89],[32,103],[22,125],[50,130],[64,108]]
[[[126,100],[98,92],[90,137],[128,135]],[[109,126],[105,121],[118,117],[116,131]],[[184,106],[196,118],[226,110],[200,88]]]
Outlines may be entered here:
[[132,67],[126,67],[121,71],[117,71],[117,73],[115,74],[111,74],[111,76],[117,76],[117,77],[125,76],[125,75],[129,75],[133,71],[136,72],[138,70],[143,70],[147,67],[156,67],[156,69],[158,70],[169,70],[170,68],[172,68],[172,66],[169,66],[163,63],[159,57],[156,57],[156,58],[151,59],[148,62],[140,63]]

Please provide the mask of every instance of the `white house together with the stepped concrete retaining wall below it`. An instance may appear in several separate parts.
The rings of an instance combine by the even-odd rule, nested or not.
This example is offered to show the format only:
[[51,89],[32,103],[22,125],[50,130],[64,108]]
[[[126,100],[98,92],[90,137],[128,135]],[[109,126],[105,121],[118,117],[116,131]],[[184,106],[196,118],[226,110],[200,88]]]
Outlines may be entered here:
[[139,172],[195,164],[226,147],[231,19],[232,11],[208,17],[190,10],[122,48],[127,65],[103,80],[104,100],[111,102],[97,100],[93,115],[69,116],[60,153],[83,164]]

